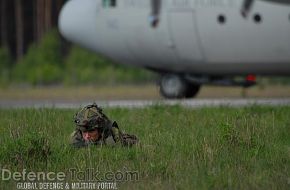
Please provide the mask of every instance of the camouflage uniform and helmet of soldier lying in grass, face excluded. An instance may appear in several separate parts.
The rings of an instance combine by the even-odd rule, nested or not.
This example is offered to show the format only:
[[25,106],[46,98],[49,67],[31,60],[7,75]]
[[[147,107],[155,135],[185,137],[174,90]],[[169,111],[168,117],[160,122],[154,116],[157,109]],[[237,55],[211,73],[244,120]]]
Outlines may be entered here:
[[[110,121],[96,104],[88,105],[79,111],[75,115],[75,123],[76,130],[71,135],[71,144],[76,148],[88,145],[131,146],[138,143],[135,135],[122,133],[118,124]],[[85,141],[82,132],[96,129],[101,133],[101,138],[96,141]]]

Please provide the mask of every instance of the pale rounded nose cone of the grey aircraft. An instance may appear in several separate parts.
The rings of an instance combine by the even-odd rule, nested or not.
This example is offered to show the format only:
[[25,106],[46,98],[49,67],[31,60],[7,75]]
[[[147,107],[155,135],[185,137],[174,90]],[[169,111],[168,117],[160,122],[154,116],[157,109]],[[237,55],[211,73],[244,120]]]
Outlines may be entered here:
[[86,48],[94,48],[96,2],[95,0],[69,0],[62,7],[58,28],[64,38]]

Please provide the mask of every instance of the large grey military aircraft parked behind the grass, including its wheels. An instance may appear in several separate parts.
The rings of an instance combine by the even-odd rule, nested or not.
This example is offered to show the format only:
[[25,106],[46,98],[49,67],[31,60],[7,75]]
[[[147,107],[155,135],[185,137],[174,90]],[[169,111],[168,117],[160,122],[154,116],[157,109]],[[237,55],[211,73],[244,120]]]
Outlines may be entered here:
[[167,98],[193,97],[204,84],[251,86],[255,75],[290,74],[289,1],[160,1],[152,27],[149,0],[70,0],[59,29],[85,48],[159,73]]

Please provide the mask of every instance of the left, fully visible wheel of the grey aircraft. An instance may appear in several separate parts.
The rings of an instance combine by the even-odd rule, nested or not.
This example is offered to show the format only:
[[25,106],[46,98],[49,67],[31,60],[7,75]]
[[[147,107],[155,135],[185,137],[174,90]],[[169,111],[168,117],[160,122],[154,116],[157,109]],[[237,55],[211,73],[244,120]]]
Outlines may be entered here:
[[160,80],[160,93],[165,98],[185,98],[188,84],[179,75],[163,75]]

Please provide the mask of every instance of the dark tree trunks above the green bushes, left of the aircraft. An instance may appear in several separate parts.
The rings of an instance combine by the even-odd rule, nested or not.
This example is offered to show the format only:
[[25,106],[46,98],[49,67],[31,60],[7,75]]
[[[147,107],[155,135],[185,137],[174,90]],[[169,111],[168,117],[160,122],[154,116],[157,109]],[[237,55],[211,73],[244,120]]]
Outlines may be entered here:
[[0,0],[0,47],[21,59],[33,42],[57,26],[66,0]]

